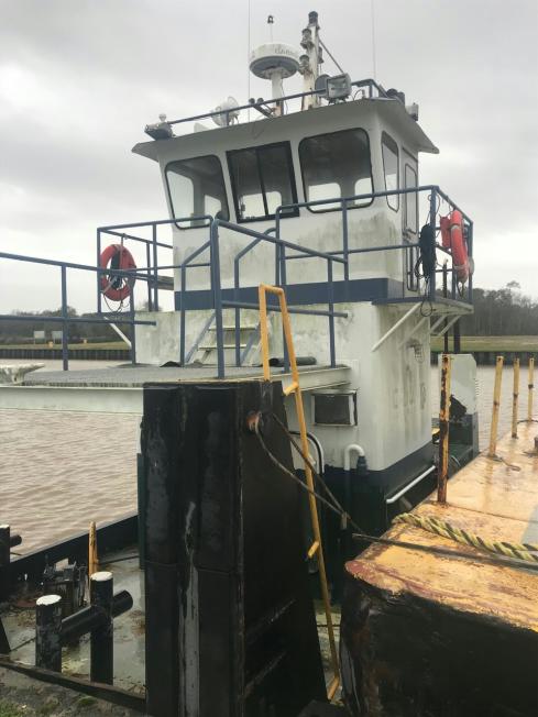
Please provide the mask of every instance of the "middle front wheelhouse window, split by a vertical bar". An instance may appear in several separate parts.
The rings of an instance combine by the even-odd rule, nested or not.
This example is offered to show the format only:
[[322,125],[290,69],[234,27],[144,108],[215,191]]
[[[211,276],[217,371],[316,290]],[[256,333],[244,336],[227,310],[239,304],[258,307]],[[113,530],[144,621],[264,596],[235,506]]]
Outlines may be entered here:
[[[273,219],[282,205],[297,202],[289,143],[235,150],[228,153],[238,221]],[[298,209],[282,217],[297,217]]]

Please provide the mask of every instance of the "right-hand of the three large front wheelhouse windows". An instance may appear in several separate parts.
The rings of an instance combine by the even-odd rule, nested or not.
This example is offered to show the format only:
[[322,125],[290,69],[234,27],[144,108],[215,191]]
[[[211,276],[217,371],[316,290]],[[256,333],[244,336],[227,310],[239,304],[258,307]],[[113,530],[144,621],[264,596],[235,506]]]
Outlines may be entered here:
[[[307,137],[299,144],[299,159],[307,201],[369,195],[373,191],[370,142],[364,130],[342,130]],[[372,198],[358,199],[349,208],[366,207]],[[340,202],[309,207],[334,211]]]

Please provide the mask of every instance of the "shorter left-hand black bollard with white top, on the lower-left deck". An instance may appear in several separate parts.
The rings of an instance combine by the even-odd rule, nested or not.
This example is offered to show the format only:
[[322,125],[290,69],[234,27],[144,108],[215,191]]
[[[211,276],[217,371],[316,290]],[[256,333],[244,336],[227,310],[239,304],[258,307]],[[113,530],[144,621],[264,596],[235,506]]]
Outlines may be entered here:
[[44,595],[35,604],[35,666],[62,672],[62,598]]

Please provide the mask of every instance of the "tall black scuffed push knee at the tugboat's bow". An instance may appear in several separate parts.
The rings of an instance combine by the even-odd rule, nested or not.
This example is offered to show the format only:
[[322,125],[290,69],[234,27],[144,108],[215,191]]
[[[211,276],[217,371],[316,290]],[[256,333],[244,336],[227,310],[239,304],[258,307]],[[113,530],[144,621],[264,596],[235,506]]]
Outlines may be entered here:
[[[146,687],[151,715],[296,717],[325,695],[298,487],[249,430],[285,421],[257,380],[144,389]],[[293,468],[289,443],[264,438]]]

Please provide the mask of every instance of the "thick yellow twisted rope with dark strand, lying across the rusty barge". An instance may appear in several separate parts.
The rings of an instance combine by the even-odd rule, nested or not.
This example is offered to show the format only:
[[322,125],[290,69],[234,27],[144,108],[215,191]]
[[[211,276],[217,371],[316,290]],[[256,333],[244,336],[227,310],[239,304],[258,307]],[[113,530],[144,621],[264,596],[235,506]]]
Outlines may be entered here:
[[538,563],[538,544],[536,543],[513,543],[506,541],[485,540],[472,532],[455,528],[444,520],[438,518],[422,518],[413,512],[403,512],[394,519],[394,522],[405,522],[409,526],[422,528],[429,532],[437,533],[442,538],[455,540],[463,545],[471,545],[479,550],[487,550],[491,553],[517,558],[528,563]]

